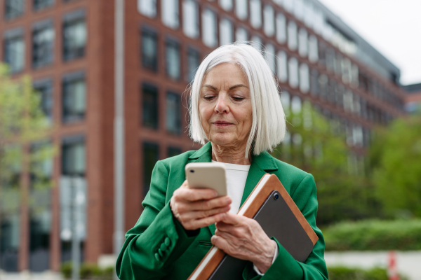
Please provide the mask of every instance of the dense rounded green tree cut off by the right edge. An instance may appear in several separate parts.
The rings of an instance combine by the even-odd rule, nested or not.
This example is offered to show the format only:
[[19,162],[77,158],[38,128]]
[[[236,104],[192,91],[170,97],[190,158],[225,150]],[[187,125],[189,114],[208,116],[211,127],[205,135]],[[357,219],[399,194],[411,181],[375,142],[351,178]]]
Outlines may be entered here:
[[421,116],[377,127],[370,149],[371,180],[390,216],[421,217]]

